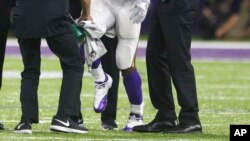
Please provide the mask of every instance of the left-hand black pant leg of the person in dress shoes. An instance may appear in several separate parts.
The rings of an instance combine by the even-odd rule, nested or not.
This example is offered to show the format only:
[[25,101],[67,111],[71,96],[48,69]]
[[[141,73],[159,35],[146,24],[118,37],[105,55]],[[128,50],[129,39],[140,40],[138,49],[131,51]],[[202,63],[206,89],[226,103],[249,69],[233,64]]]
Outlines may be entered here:
[[151,19],[150,32],[146,50],[146,65],[149,85],[149,95],[153,106],[158,110],[156,120],[175,120],[174,100],[172,95],[171,77],[168,65],[168,55],[157,5]]

